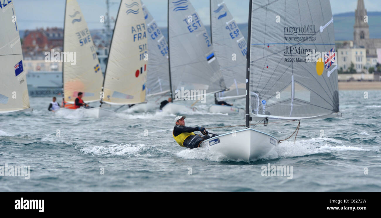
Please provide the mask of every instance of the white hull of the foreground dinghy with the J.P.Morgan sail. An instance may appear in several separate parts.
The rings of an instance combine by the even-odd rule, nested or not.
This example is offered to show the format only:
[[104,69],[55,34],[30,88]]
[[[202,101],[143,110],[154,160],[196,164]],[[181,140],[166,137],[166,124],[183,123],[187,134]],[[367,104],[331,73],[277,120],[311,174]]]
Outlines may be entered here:
[[200,147],[209,148],[235,161],[255,161],[263,157],[279,144],[278,139],[253,129],[239,130],[212,137],[202,142]]

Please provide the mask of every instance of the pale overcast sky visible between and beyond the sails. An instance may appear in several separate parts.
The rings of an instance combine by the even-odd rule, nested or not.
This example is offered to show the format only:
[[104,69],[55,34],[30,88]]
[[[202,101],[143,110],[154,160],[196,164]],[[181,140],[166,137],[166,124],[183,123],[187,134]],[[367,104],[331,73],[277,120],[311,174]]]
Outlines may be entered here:
[[[205,25],[210,24],[209,1],[190,0]],[[63,27],[65,0],[12,0],[21,30],[36,27]],[[104,28],[100,16],[106,14],[106,0],[77,0],[90,29]],[[116,18],[120,0],[110,6],[110,16]],[[249,0],[224,0],[238,23],[247,23]],[[332,13],[353,12],[357,0],[330,0]],[[368,11],[381,11],[380,0],[364,0]],[[148,10],[160,27],[166,27],[166,0],[144,0]]]

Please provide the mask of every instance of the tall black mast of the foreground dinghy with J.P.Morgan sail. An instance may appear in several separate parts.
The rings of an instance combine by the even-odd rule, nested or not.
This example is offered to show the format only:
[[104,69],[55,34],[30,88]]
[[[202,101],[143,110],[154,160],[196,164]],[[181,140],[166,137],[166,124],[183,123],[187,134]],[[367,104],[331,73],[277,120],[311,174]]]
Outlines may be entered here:
[[247,33],[247,55],[246,55],[246,107],[245,107],[245,121],[246,128],[250,128],[250,47],[251,47],[251,6],[253,5],[253,0],[250,0],[249,6],[249,22],[248,22],[248,33]]

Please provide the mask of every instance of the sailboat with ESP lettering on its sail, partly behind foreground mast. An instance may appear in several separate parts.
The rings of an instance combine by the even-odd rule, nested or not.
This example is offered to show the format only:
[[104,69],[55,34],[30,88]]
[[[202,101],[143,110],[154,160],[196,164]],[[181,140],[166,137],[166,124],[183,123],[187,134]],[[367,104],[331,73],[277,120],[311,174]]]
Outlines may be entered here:
[[[215,93],[216,100],[245,98],[247,43],[223,0],[210,0],[211,41],[229,91]],[[244,108],[213,104],[212,113],[236,114]]]

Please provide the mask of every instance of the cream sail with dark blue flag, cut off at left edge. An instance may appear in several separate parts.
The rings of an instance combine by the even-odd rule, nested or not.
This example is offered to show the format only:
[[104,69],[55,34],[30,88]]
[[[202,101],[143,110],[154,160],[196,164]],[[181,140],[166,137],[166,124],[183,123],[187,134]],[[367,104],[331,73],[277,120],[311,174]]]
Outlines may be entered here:
[[0,114],[32,111],[14,5],[4,2],[0,6]]

